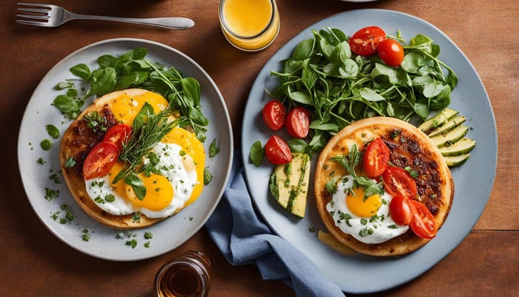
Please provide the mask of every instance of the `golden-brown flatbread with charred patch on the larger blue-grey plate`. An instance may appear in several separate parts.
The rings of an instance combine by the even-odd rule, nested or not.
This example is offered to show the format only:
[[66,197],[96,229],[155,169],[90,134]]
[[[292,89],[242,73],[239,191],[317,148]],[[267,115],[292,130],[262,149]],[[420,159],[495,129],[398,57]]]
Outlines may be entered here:
[[[438,229],[445,221],[454,199],[452,175],[438,147],[429,137],[415,126],[404,121],[374,117],[356,121],[337,133],[324,147],[319,156],[315,176],[315,195],[317,210],[326,228],[341,243],[368,255],[402,255],[424,246],[429,240],[416,236],[411,228],[398,237],[378,244],[363,243],[335,226],[333,217],[326,210],[326,204],[332,196],[325,190],[330,176],[336,179],[348,175],[337,162],[330,158],[347,154],[353,144],[363,152],[366,144],[376,137],[381,137],[390,150],[390,162],[395,166],[411,166],[419,174],[415,179],[418,199],[433,214]],[[362,166],[360,166],[362,167]]]

